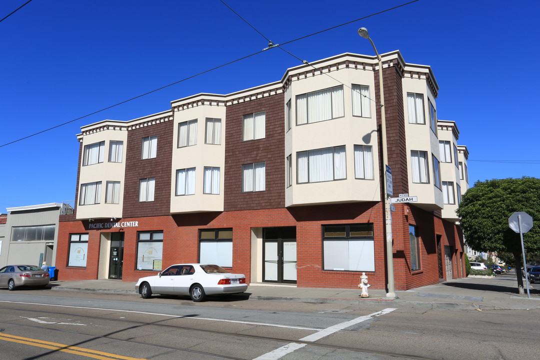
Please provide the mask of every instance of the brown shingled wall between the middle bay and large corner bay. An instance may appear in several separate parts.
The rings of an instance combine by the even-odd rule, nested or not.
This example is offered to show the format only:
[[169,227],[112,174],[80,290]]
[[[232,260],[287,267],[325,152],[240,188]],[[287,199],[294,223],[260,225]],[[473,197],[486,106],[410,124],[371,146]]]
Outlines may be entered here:
[[[227,106],[225,211],[285,207],[284,94]],[[242,141],[242,117],[266,111],[266,137]],[[242,165],[266,162],[266,191],[242,193]]]

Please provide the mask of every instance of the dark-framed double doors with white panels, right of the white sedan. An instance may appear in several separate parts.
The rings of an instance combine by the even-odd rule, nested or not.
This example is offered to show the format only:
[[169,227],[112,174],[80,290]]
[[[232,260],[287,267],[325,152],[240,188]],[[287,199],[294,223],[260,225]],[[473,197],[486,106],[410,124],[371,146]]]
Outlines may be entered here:
[[296,283],[296,228],[265,228],[262,243],[263,281]]

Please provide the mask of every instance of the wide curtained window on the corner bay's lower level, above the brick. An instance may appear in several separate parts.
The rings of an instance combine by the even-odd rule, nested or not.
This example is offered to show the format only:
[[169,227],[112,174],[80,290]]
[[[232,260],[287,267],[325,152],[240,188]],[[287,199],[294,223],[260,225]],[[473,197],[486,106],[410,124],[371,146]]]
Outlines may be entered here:
[[296,181],[333,181],[347,178],[345,146],[327,147],[296,153]]

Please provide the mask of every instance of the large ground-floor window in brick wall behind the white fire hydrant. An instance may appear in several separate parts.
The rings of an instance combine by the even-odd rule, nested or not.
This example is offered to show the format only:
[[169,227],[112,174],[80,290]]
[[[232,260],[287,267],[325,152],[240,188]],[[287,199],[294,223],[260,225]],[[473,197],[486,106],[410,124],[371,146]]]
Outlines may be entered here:
[[375,271],[373,224],[322,227],[323,269]]

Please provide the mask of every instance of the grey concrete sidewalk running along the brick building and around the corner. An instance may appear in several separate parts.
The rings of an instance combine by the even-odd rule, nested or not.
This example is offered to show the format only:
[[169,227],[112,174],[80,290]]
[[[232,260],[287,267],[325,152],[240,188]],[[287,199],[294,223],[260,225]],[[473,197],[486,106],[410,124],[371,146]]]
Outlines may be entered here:
[[[135,282],[120,280],[52,281],[52,290],[99,291],[138,296]],[[456,279],[411,290],[397,290],[396,297],[387,297],[382,289],[369,289],[369,297],[361,298],[360,289],[297,288],[284,284],[252,283],[246,293],[233,295],[250,300],[297,301],[316,303],[370,304],[385,302],[394,308],[447,310],[540,309],[540,291],[530,287],[531,297],[517,294],[515,274],[494,278]]]

